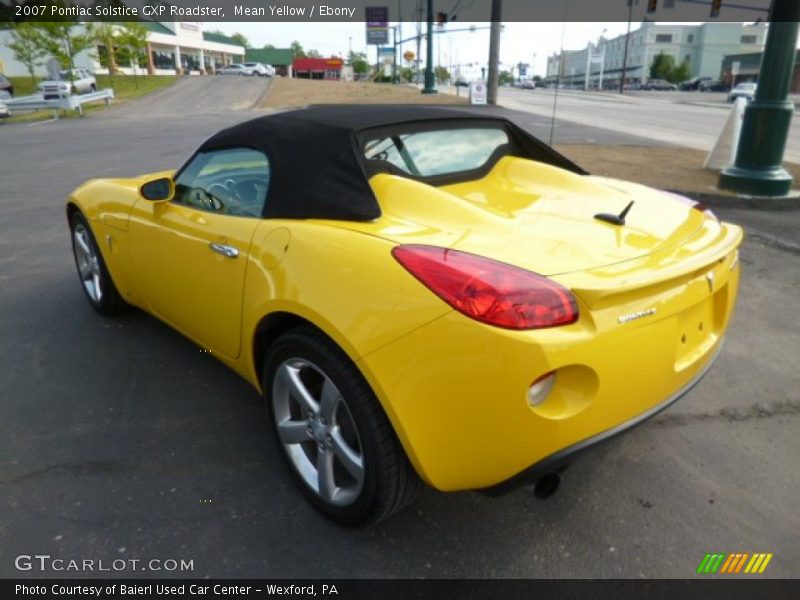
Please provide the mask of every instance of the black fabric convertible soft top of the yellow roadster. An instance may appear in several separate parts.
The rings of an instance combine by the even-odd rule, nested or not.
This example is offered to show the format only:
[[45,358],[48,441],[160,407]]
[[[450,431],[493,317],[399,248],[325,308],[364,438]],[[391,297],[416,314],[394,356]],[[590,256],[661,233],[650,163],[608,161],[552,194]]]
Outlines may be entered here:
[[584,173],[507,119],[430,106],[315,106],[259,117],[212,136],[198,152],[249,147],[270,161],[264,216],[370,221],[381,215],[369,185],[358,134],[392,125],[435,129],[448,121],[496,122],[511,140],[509,153]]

